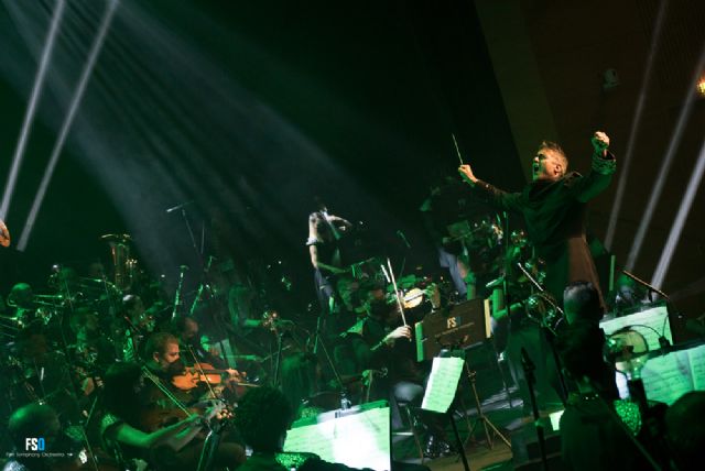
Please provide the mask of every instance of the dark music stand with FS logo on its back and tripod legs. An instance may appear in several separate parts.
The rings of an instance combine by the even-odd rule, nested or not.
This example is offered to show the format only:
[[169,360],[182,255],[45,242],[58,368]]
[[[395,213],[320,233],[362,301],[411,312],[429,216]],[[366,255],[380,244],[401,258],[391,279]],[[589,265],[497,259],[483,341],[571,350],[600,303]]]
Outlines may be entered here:
[[[489,306],[485,299],[473,299],[459,305],[451,307],[447,311],[442,310],[432,313],[415,326],[416,333],[416,360],[430,360],[438,355],[442,350],[464,350],[470,346],[481,343],[490,336],[489,329]],[[482,412],[482,403],[477,393],[476,377],[477,372],[470,370],[465,358],[465,372],[470,383],[473,396],[475,397],[475,408],[477,409],[477,418],[475,424],[469,427],[469,434],[463,447],[473,437],[473,432],[479,423],[485,428],[485,437],[487,445],[491,449],[494,447],[492,437],[489,432],[491,429],[495,434],[511,448],[511,443],[499,429],[490,421]],[[467,412],[464,410],[466,418]]]

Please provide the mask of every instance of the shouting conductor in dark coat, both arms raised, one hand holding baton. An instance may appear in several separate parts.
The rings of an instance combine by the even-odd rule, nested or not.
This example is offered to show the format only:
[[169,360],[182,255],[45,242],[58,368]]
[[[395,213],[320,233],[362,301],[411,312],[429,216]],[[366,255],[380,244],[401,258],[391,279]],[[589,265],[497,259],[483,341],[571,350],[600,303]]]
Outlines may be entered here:
[[607,188],[616,161],[607,150],[607,134],[597,131],[592,143],[592,169],[582,176],[567,173],[568,160],[558,144],[542,142],[533,158],[533,180],[521,193],[508,194],[480,180],[467,164],[458,168],[490,204],[523,215],[535,254],[546,262],[545,288],[557,300],[568,283],[586,281],[599,286],[585,237],[586,204]]

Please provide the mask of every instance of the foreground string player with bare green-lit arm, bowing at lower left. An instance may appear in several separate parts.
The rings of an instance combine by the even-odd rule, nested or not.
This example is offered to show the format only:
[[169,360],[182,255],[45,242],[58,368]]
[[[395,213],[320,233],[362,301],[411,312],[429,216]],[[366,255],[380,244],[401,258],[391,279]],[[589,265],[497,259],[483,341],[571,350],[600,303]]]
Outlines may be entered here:
[[[177,349],[178,346],[175,346]],[[166,358],[177,357],[178,352],[172,350],[164,362],[167,363]],[[219,409],[212,407],[205,413],[192,413],[173,396],[162,393],[159,386],[151,387],[154,386],[154,377],[137,363],[110,366],[105,377],[106,414],[100,424],[106,449],[113,452],[126,468],[130,461],[142,460],[156,470],[196,469],[204,443],[200,432]],[[148,418],[153,417],[163,420],[148,423]],[[234,468],[242,461],[245,450],[241,446],[220,441],[216,451],[216,467]]]

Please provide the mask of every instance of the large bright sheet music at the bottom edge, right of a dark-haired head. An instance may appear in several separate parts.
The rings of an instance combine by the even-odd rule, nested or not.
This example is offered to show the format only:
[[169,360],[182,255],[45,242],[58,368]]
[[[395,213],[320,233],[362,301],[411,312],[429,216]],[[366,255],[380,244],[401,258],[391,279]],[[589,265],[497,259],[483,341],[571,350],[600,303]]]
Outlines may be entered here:
[[370,408],[341,417],[334,414],[334,418],[328,418],[330,414],[322,414],[318,421],[289,430],[284,451],[307,451],[325,461],[350,468],[390,470],[389,407]]

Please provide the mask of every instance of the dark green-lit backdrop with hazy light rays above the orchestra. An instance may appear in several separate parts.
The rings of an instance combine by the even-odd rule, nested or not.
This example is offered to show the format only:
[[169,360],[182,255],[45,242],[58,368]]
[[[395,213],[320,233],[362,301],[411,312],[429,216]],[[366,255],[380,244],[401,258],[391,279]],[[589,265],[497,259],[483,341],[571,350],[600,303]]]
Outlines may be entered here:
[[[106,3],[70,2],[7,223],[24,224]],[[24,117],[54,2],[1,12],[2,175]],[[106,259],[130,232],[154,272],[193,261],[214,212],[238,258],[286,258],[307,273],[314,198],[362,221],[386,251],[422,243],[417,207],[467,154],[521,169],[471,4],[121,1],[14,276]],[[219,217],[218,216],[218,217]],[[414,258],[427,260],[424,250]],[[9,266],[9,265],[7,265]],[[306,275],[307,277],[308,275]],[[307,282],[307,280],[306,280]]]

